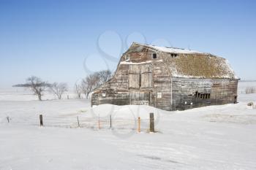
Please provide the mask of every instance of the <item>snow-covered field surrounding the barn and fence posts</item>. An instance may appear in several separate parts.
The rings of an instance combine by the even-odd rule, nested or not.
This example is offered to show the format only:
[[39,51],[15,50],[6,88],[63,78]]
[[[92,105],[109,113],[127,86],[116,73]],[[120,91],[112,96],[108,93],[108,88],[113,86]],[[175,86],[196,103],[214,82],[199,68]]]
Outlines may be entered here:
[[[238,104],[176,112],[91,108],[72,93],[37,101],[23,88],[0,89],[0,170],[256,169],[256,108],[246,106],[256,93],[244,93],[251,86],[256,82],[239,83]],[[148,133],[149,112],[155,134]]]

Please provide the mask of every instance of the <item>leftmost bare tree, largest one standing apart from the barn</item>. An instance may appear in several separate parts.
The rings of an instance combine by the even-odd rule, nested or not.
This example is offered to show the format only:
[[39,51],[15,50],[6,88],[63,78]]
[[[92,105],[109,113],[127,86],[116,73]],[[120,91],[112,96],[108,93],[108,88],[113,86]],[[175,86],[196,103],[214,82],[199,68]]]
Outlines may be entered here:
[[38,97],[39,101],[42,101],[43,92],[50,87],[50,84],[43,82],[39,77],[31,76],[26,79],[25,84],[13,85],[13,87],[29,88]]

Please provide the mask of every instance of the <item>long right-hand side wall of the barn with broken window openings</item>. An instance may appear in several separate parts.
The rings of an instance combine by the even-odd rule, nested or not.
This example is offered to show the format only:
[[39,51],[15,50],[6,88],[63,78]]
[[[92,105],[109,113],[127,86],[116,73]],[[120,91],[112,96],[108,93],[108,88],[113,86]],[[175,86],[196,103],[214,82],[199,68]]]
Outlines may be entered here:
[[238,80],[173,78],[173,109],[236,103]]

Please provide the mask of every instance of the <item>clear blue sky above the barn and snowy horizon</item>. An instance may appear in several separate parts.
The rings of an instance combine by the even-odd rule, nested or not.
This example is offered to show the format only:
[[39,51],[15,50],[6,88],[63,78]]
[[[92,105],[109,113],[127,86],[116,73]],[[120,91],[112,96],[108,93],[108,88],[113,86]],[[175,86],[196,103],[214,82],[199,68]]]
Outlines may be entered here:
[[220,55],[256,80],[256,3],[0,0],[0,87],[31,75],[72,86],[114,70],[131,42]]

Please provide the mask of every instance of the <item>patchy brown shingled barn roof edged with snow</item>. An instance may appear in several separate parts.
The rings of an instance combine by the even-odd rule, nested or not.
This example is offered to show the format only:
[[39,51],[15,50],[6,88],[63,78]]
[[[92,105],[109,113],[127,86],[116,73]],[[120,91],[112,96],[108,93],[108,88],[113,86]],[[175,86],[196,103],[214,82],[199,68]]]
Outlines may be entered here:
[[[162,53],[162,60],[173,77],[239,79],[225,58],[176,47],[159,47],[133,43],[131,47],[143,46]],[[178,54],[172,57],[170,53]]]

